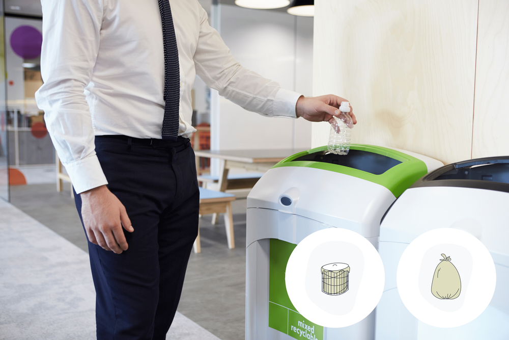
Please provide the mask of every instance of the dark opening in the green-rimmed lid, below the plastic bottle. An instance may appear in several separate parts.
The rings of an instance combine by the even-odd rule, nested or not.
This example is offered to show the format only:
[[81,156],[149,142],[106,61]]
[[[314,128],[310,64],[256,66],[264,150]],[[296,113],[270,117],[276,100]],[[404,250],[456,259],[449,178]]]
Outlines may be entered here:
[[298,161],[342,165],[374,175],[381,175],[390,168],[402,163],[378,153],[354,149],[350,149],[350,152],[348,152],[347,155],[328,153],[327,151],[317,151],[292,160],[292,162]]

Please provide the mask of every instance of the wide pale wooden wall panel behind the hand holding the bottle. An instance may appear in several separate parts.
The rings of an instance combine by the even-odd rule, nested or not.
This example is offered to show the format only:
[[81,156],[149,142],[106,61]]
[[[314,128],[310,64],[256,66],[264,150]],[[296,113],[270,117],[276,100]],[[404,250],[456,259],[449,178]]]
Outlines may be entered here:
[[[314,95],[348,98],[352,141],[469,159],[477,0],[316,0]],[[314,124],[313,146],[327,143]]]

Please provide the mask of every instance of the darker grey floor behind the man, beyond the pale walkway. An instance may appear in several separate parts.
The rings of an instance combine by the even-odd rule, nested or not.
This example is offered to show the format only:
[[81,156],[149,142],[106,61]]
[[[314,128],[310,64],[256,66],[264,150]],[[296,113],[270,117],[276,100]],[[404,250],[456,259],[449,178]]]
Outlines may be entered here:
[[[244,194],[245,197],[245,194]],[[87,241],[69,186],[11,187],[11,203],[25,214],[87,251]],[[191,253],[178,311],[222,340],[244,338],[246,200],[233,203],[235,249],[228,249],[224,221],[200,221],[202,252]],[[184,320],[185,321],[185,320]],[[178,324],[182,327],[182,322]]]

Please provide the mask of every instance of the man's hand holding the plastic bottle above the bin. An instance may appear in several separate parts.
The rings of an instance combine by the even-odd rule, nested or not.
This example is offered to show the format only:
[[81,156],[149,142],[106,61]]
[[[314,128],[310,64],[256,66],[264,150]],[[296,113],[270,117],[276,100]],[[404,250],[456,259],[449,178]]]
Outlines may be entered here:
[[[339,116],[341,111],[338,108],[342,101],[348,101],[345,98],[328,94],[320,97],[304,97],[301,96],[297,100],[295,112],[297,117],[302,117],[305,120],[312,122],[329,121],[332,116]],[[357,119],[353,114],[353,108],[350,106],[350,117],[353,123],[357,124]]]

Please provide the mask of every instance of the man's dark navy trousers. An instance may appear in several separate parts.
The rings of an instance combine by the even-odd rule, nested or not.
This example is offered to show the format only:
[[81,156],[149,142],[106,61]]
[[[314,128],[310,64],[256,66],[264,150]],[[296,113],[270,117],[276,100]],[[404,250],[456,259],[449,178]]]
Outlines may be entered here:
[[[165,339],[198,232],[200,193],[189,139],[97,136],[109,190],[134,231],[121,254],[89,242],[98,339]],[[81,199],[75,195],[81,218]],[[81,219],[82,222],[82,219]]]

